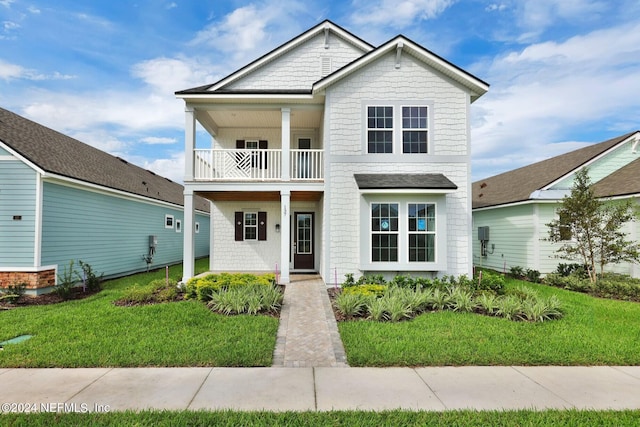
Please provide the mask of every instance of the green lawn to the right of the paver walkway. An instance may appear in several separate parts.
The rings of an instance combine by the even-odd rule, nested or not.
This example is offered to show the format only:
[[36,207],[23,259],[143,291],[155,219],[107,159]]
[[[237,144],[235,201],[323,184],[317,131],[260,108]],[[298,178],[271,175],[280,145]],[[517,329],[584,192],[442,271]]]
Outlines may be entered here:
[[[508,287],[522,284],[510,280]],[[557,295],[564,317],[542,323],[450,311],[411,321],[339,322],[351,366],[639,365],[640,304],[527,283]]]

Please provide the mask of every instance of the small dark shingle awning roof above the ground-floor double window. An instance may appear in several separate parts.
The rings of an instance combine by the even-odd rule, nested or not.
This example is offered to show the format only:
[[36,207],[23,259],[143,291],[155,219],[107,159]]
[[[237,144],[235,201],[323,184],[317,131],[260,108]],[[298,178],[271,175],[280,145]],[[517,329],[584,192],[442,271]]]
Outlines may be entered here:
[[360,189],[456,190],[458,188],[440,173],[422,174],[354,174]]

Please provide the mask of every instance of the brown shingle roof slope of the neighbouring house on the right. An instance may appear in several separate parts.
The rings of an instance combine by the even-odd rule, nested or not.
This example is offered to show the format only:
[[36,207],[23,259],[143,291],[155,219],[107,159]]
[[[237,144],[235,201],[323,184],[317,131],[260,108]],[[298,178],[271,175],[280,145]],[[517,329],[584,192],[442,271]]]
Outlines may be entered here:
[[[637,133],[637,131],[476,181],[472,184],[473,208],[477,209],[530,200],[531,193],[534,191],[542,190],[553,182],[569,175],[599,155],[620,143],[626,142],[626,140],[635,133]],[[611,176],[609,178],[611,178]],[[610,188],[607,191],[611,190]]]

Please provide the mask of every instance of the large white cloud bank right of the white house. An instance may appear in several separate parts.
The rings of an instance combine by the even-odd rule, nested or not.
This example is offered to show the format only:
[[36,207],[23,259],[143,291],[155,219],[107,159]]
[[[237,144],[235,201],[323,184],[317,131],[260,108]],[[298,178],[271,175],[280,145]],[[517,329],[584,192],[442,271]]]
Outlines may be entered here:
[[[594,123],[637,117],[639,58],[640,24],[633,23],[533,44],[496,58],[485,72],[476,70],[492,88],[472,106],[474,175],[579,148],[584,142],[566,141],[564,135],[611,131],[594,129]],[[613,130],[623,134],[632,128]]]

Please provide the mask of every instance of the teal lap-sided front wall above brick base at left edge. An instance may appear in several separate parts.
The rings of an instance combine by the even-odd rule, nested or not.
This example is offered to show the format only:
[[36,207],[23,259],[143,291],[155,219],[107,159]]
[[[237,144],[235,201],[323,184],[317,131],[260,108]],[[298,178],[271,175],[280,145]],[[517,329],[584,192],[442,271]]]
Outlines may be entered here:
[[0,161],[0,267],[33,266],[36,182],[37,173],[24,163]]

